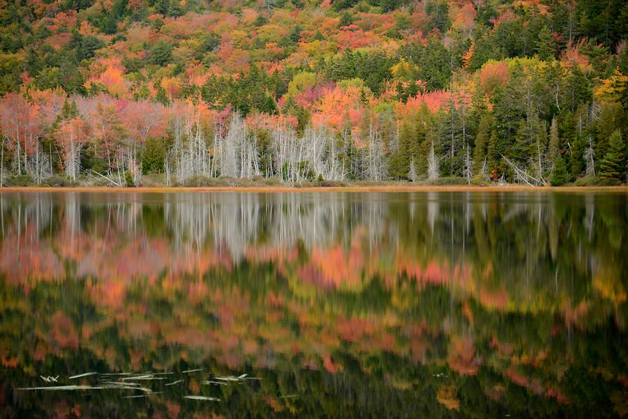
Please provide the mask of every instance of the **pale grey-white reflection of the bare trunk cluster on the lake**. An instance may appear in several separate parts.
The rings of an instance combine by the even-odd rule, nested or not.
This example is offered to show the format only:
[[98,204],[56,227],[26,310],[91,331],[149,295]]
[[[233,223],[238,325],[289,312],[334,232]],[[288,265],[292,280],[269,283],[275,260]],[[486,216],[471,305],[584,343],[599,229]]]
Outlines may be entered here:
[[[382,204],[347,205],[343,195],[218,194],[167,197],[165,222],[176,245],[225,246],[234,260],[251,245],[292,247],[297,241],[328,246],[350,236],[347,220],[368,222],[371,231],[382,220]],[[364,212],[364,214],[363,214]],[[184,244],[185,243],[185,244]]]

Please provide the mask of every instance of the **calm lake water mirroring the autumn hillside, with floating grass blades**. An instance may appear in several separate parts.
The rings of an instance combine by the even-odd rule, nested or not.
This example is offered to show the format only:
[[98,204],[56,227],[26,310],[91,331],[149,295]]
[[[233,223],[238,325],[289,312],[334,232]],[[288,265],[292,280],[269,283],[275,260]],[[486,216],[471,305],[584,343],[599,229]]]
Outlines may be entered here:
[[3,192],[0,215],[1,417],[628,414],[626,194]]

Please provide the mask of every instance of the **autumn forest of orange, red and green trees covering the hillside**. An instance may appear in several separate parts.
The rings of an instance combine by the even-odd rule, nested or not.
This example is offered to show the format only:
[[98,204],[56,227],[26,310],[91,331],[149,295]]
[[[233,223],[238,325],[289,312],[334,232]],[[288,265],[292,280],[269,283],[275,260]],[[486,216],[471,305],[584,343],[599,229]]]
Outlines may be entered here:
[[622,0],[1,0],[0,185],[618,185]]

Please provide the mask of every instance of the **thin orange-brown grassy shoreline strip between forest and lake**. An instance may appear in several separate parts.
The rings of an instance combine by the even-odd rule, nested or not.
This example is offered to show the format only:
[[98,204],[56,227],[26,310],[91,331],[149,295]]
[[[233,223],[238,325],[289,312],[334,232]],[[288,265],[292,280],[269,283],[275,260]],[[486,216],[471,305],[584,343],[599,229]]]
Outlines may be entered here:
[[348,185],[348,186],[140,186],[113,188],[109,186],[8,186],[2,192],[122,192],[122,193],[174,193],[174,192],[623,192],[622,186],[539,186],[526,185]]

